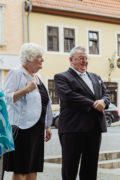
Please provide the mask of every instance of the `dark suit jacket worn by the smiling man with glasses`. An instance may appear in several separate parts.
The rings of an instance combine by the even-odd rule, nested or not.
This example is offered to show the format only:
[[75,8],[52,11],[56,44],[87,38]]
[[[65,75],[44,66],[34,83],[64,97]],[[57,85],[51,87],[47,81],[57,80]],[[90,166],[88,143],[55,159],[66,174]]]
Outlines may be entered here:
[[95,110],[93,103],[95,100],[104,99],[108,107],[109,91],[98,75],[88,72],[87,74],[92,81],[94,94],[71,68],[54,77],[56,93],[60,98],[59,133],[107,130],[105,115]]

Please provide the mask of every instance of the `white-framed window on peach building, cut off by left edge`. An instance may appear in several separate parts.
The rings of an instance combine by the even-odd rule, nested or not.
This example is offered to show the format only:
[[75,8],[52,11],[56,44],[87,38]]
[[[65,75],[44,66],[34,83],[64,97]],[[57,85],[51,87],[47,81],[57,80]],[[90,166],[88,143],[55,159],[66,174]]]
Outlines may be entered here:
[[0,5],[0,46],[4,45],[4,5]]

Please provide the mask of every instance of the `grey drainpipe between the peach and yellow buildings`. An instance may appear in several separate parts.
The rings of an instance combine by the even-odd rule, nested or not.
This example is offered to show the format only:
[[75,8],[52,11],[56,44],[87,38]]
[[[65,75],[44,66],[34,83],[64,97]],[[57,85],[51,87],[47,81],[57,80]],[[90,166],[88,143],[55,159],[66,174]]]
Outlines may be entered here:
[[[32,2],[30,0],[24,0],[24,9],[25,5],[28,9],[27,13],[27,41],[30,42],[30,13],[32,11]],[[24,10],[24,27],[25,27],[25,10]]]

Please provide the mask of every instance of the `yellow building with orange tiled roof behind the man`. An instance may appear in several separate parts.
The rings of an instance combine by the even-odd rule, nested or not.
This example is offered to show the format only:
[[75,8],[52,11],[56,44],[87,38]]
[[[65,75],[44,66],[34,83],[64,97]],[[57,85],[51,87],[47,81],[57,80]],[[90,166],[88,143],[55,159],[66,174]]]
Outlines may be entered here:
[[[54,91],[54,74],[69,67],[69,51],[84,46],[88,71],[97,73],[111,91],[112,102],[120,109],[120,2],[113,0],[31,0],[29,39],[41,44],[45,61],[41,74],[48,86],[53,107],[59,99]],[[27,31],[26,31],[27,32]],[[110,77],[109,77],[110,76]],[[109,82],[108,82],[109,79]]]

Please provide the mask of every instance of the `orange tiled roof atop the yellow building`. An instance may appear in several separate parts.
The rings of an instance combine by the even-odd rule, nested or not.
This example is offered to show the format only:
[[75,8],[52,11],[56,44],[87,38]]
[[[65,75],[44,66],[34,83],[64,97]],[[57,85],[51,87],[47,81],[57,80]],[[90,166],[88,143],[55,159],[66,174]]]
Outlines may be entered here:
[[120,0],[31,0],[33,5],[120,18]]

